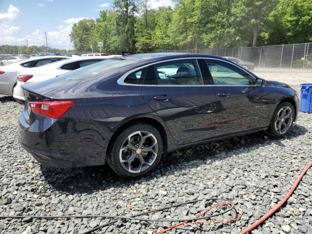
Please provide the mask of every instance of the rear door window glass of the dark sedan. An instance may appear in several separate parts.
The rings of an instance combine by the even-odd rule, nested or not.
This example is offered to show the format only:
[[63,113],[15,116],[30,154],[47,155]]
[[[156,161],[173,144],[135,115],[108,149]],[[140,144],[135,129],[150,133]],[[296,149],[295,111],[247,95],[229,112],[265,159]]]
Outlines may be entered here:
[[196,59],[174,60],[148,67],[146,85],[203,85]]

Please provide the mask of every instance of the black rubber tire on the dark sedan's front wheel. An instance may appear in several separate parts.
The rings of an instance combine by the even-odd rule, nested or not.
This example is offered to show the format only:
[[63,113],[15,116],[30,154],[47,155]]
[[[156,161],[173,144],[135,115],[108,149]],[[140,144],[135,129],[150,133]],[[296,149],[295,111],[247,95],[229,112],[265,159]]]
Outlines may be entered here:
[[[288,125],[290,125],[289,128],[286,129],[285,132],[281,132],[281,131],[276,130],[275,121],[277,120],[277,114],[280,112],[280,110],[282,108],[287,108],[287,107],[289,107],[292,110],[292,112],[291,112],[292,121],[291,121],[291,123],[288,123]],[[273,116],[271,118],[270,126],[268,129],[268,133],[272,137],[284,137],[285,135],[287,135],[292,130],[293,120],[294,120],[294,109],[293,109],[292,104],[288,101],[279,103],[273,112]]]

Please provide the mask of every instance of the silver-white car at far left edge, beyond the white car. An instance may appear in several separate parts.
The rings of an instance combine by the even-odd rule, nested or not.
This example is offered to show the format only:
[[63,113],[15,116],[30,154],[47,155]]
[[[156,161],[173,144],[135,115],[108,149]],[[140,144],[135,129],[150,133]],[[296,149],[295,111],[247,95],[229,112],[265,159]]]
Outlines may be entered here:
[[23,59],[9,65],[0,67],[0,94],[12,95],[13,88],[17,82],[19,73],[27,71],[32,67],[57,62],[63,59],[71,59],[65,56],[40,56],[30,59]]

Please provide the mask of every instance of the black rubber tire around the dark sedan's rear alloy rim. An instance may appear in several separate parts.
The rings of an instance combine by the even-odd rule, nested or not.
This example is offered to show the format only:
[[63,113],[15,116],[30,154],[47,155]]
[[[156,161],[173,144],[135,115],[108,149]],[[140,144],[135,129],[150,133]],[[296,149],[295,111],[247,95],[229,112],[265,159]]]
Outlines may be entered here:
[[[148,167],[146,165],[147,169],[145,169],[144,171],[132,173],[132,172],[129,172],[125,169],[125,167],[124,167],[125,164],[128,165],[128,168],[131,168],[131,165],[133,163],[140,162],[140,159],[137,157],[134,158],[133,161],[130,163],[130,166],[129,166],[128,163],[122,164],[120,162],[119,153],[120,153],[120,150],[122,147],[125,148],[122,144],[124,144],[124,142],[128,139],[128,136],[131,136],[132,134],[134,134],[138,131],[149,132],[152,135],[154,135],[153,139],[156,138],[156,142],[157,142],[156,143],[157,144],[157,154],[156,154],[156,156],[153,155],[155,157],[153,163],[151,163],[151,165]],[[134,135],[134,136],[136,136],[136,135]],[[152,171],[156,167],[157,163],[160,160],[160,157],[162,154],[162,149],[163,149],[163,141],[162,141],[162,137],[161,137],[160,133],[158,132],[158,130],[149,124],[138,123],[136,125],[132,125],[132,126],[126,128],[124,131],[122,131],[120,134],[118,134],[118,137],[114,140],[114,142],[112,143],[112,145],[110,147],[109,153],[106,156],[106,161],[107,161],[108,165],[112,168],[112,170],[114,172],[116,172],[119,176],[122,176],[124,178],[134,178],[137,176],[145,175],[145,174],[149,173],[150,171]],[[132,150],[130,150],[130,153],[131,152],[132,152]],[[134,153],[134,151],[133,151],[133,153]],[[121,154],[123,154],[123,153],[121,153]],[[135,154],[137,154],[137,152]],[[141,154],[143,154],[143,150],[142,150]],[[147,154],[152,154],[152,153],[147,153]],[[146,156],[148,156],[148,155],[146,155]],[[153,156],[150,155],[149,157],[152,158],[152,160],[153,160]],[[131,157],[131,156],[129,156],[129,157]]]

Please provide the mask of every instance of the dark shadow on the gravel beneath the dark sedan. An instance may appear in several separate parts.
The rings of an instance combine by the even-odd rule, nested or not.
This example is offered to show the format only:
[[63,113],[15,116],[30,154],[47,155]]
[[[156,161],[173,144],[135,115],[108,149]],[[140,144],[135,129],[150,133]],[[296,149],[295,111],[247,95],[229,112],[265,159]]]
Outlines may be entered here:
[[[307,131],[305,127],[295,124],[286,138],[292,139],[305,134]],[[159,176],[169,176],[176,172],[198,167],[207,160],[222,160],[231,157],[233,153],[229,153],[233,150],[244,148],[253,151],[254,146],[259,146],[259,144],[261,146],[271,144],[284,146],[280,138],[267,137],[265,132],[215,141],[163,156],[153,172],[136,179],[123,179],[117,176],[107,165],[66,169],[40,165],[40,168],[46,183],[50,184],[54,189],[69,194],[92,194],[110,188],[127,188]],[[221,152],[224,153],[223,157],[216,157]],[[183,164],[181,164],[181,161],[183,161]]]

